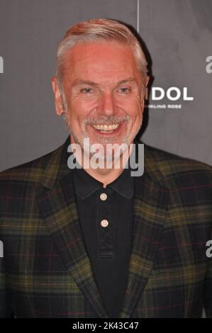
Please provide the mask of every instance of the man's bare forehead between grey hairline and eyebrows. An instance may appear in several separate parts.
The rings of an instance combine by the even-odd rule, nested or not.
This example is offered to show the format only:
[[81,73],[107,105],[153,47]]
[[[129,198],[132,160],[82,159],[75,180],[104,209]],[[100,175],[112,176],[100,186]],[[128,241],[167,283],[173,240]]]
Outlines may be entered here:
[[94,75],[132,76],[138,74],[130,45],[117,42],[92,42],[74,45],[65,55],[65,76],[76,78]]

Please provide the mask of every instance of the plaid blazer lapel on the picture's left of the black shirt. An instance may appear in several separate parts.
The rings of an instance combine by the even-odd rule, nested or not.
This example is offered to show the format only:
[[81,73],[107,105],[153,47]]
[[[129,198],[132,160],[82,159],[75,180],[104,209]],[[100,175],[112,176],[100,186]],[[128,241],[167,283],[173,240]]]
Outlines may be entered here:
[[62,261],[99,317],[108,317],[84,246],[74,198],[72,171],[67,167],[67,145],[52,153],[43,177],[38,205]]

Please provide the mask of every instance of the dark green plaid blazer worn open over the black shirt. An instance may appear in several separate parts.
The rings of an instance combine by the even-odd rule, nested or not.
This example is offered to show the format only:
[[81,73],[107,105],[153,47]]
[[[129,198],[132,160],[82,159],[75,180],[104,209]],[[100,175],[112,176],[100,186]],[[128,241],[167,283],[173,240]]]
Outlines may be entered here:
[[[67,145],[0,173],[0,317],[107,318],[79,224]],[[212,168],[145,145],[119,317],[212,317]]]

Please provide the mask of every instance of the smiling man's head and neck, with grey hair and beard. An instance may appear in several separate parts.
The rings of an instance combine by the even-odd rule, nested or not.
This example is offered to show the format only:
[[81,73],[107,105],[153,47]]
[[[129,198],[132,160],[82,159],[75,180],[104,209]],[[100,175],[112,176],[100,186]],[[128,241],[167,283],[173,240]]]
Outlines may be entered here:
[[[90,145],[103,146],[104,158],[109,144],[129,147],[140,130],[147,63],[138,40],[125,26],[113,21],[112,33],[106,20],[90,24],[94,32],[80,23],[67,31],[58,46],[52,88],[57,115],[65,115],[71,143],[79,144],[86,154],[84,139],[89,138]],[[84,29],[83,37],[80,29]],[[129,154],[130,149],[125,151],[125,161]],[[118,157],[122,162],[123,156]],[[106,168],[106,158],[104,168],[87,168],[104,186],[121,171]]]

